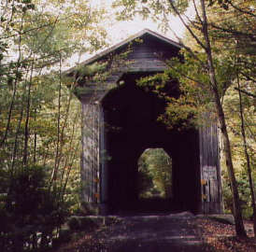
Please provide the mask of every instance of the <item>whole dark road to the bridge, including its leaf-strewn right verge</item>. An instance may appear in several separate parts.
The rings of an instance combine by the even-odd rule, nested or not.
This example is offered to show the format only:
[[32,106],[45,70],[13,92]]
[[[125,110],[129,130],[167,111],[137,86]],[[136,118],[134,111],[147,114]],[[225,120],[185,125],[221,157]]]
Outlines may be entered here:
[[[256,245],[251,242],[238,242],[241,249],[236,250],[236,242],[232,240],[234,226],[188,212],[112,219],[111,225],[102,226],[57,252],[256,251]],[[221,242],[223,237],[231,240]]]

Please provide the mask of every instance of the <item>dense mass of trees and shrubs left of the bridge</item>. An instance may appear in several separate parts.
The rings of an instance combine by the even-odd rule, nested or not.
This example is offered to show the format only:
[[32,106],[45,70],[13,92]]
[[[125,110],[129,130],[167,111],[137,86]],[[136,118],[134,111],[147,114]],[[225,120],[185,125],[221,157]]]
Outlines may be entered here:
[[64,60],[105,45],[98,25],[105,11],[88,1],[7,3],[0,7],[0,250],[44,250],[80,207],[78,83],[63,77]]

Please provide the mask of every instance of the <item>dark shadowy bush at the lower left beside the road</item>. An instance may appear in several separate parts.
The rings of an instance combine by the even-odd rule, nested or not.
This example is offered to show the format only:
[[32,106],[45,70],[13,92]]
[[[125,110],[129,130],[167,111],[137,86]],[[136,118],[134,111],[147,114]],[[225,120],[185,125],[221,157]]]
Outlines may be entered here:
[[2,251],[49,246],[54,231],[64,223],[67,207],[58,201],[58,192],[48,188],[48,170],[29,166],[10,175],[8,191],[2,194],[0,204]]

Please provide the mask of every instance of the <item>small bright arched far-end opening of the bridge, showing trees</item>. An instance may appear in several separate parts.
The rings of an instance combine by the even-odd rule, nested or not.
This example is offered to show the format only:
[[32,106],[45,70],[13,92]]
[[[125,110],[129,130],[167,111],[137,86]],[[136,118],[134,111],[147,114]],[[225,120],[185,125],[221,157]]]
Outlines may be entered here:
[[137,162],[138,208],[141,212],[170,211],[173,201],[172,158],[164,148],[147,148]]

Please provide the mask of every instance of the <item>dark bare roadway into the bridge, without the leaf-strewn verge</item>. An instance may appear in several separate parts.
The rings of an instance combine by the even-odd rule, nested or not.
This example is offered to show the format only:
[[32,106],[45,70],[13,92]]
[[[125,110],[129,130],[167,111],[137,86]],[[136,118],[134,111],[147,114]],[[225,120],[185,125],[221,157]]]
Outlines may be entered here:
[[123,217],[108,231],[111,252],[203,251],[201,231],[192,224],[192,215]]

